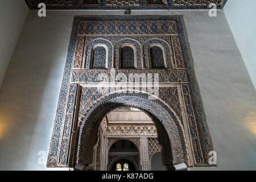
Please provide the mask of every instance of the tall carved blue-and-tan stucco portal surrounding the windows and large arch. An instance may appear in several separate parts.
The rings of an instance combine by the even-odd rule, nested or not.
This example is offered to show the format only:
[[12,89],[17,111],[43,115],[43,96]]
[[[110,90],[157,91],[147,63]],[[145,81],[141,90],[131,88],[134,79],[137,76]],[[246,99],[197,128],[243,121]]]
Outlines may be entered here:
[[[97,43],[105,46],[108,53],[109,69],[86,67],[92,60],[88,57],[93,48],[90,43],[99,37]],[[137,69],[118,69],[122,43],[136,44]],[[163,56],[169,62],[165,69],[147,66],[150,65],[147,50],[155,44],[160,44],[166,52]],[[83,163],[84,156],[80,154],[90,154],[84,151],[86,146],[97,142],[88,137],[96,134],[97,138],[96,127],[113,104],[138,107],[159,121],[156,126],[163,125],[168,134],[174,164],[208,166],[207,155],[213,148],[187,45],[181,16],[75,17],[47,166],[71,167],[76,162]],[[155,100],[148,99],[147,89],[121,94],[115,87],[104,85],[107,80],[122,82],[117,77],[120,74],[127,77],[155,73],[159,75],[159,95]],[[98,114],[91,115],[95,111]],[[160,139],[159,144],[163,144]]]

